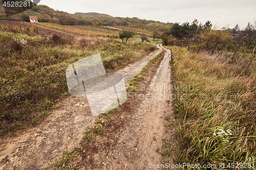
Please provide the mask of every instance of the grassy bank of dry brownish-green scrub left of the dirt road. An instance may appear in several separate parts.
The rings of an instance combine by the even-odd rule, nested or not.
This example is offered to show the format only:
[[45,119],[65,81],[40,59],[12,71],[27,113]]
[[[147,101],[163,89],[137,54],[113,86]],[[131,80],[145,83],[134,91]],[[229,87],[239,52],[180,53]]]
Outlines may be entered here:
[[155,49],[105,37],[0,32],[0,135],[12,135],[44,118],[54,100],[68,94],[65,70],[73,62],[100,53],[106,71],[113,71]]

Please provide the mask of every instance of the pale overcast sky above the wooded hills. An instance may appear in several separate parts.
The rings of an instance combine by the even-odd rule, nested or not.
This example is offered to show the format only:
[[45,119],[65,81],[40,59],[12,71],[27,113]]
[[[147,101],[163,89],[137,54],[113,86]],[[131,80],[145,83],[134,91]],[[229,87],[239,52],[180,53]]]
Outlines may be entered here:
[[210,20],[220,28],[237,23],[244,28],[256,18],[256,0],[41,0],[39,4],[72,14],[98,12],[180,23]]

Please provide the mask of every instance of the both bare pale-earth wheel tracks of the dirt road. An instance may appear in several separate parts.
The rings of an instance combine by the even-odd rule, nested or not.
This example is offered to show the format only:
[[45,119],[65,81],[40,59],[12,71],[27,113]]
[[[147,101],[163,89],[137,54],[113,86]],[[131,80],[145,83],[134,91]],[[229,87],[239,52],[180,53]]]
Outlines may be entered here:
[[[127,82],[160,52],[161,48],[159,47],[143,60],[118,72],[124,75],[125,82]],[[169,61],[170,51],[166,50],[166,55],[157,74],[150,86],[145,89],[147,93],[141,95],[142,103],[138,105],[134,115],[130,115],[132,121],[125,122],[125,125],[131,125],[120,132],[119,138],[117,136],[116,142],[119,144],[113,144],[114,147],[112,146],[110,151],[105,151],[113,161],[108,164],[98,161],[104,165],[104,168],[145,169],[144,167],[149,162],[161,163],[160,150],[164,135],[163,116],[167,115],[167,112],[170,113],[170,104],[165,102],[170,96]],[[56,161],[63,150],[78,147],[84,128],[93,125],[96,118],[91,116],[88,101],[86,98],[66,96],[57,102],[55,107],[46,120],[36,128],[29,129],[17,137],[1,139],[0,170],[44,169],[47,162]],[[122,125],[120,125],[120,129],[123,129]],[[102,158],[105,155],[98,157]],[[131,159],[125,161],[127,157]]]

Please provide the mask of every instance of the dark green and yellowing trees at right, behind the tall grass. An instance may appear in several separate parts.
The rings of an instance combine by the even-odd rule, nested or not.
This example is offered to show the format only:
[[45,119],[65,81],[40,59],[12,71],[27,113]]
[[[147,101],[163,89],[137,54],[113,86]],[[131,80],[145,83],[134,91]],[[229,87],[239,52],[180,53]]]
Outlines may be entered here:
[[[174,23],[162,36],[164,45],[189,45],[195,50],[206,51],[238,51],[241,46],[255,52],[256,48],[256,20],[248,23],[243,30],[239,25],[233,29],[212,29],[212,24],[207,21],[204,25],[195,19],[191,24],[184,22],[181,25]],[[235,55],[235,54],[234,54]]]

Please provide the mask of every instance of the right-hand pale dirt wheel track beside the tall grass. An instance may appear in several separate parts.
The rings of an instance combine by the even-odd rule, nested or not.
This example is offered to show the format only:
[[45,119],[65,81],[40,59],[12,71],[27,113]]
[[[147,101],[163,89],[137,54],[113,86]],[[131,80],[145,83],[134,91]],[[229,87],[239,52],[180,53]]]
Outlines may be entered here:
[[169,137],[169,133],[165,132],[164,117],[172,115],[171,103],[168,101],[172,76],[170,60],[171,52],[166,50],[150,88],[142,96],[142,103],[133,110],[129,127],[119,135],[118,144],[108,151],[109,154],[101,158],[101,163],[106,164],[104,169],[139,170],[162,163],[163,138]]

